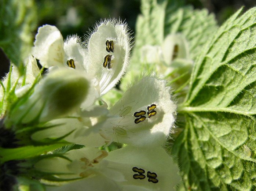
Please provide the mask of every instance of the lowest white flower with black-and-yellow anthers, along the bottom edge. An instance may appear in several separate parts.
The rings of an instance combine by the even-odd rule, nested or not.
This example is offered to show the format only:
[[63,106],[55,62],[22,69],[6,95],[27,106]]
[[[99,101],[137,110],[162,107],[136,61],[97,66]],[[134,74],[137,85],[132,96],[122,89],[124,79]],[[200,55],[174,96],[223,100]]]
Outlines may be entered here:
[[[39,161],[35,168],[56,174],[58,179],[76,179],[48,191],[162,191],[174,190],[179,183],[178,168],[165,150],[159,146],[132,147],[107,153],[95,148],[71,150],[69,158],[51,158]],[[41,180],[45,184],[56,184]]]

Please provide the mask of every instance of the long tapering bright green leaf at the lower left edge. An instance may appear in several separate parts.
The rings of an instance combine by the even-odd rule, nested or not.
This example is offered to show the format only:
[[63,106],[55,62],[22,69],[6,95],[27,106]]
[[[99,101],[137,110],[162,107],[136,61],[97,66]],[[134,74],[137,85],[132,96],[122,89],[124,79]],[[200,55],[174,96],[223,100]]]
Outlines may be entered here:
[[38,156],[65,145],[69,145],[69,143],[55,143],[46,146],[24,146],[14,149],[5,149],[0,147],[0,162],[3,163],[10,160],[21,160]]

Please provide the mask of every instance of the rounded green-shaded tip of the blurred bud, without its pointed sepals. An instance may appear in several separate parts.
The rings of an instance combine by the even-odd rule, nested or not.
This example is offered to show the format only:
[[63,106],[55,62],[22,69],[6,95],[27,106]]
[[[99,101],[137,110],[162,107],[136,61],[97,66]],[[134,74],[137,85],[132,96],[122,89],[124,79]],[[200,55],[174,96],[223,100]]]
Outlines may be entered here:
[[46,101],[42,118],[65,115],[79,107],[87,96],[88,86],[81,72],[69,68],[53,71],[37,92]]

